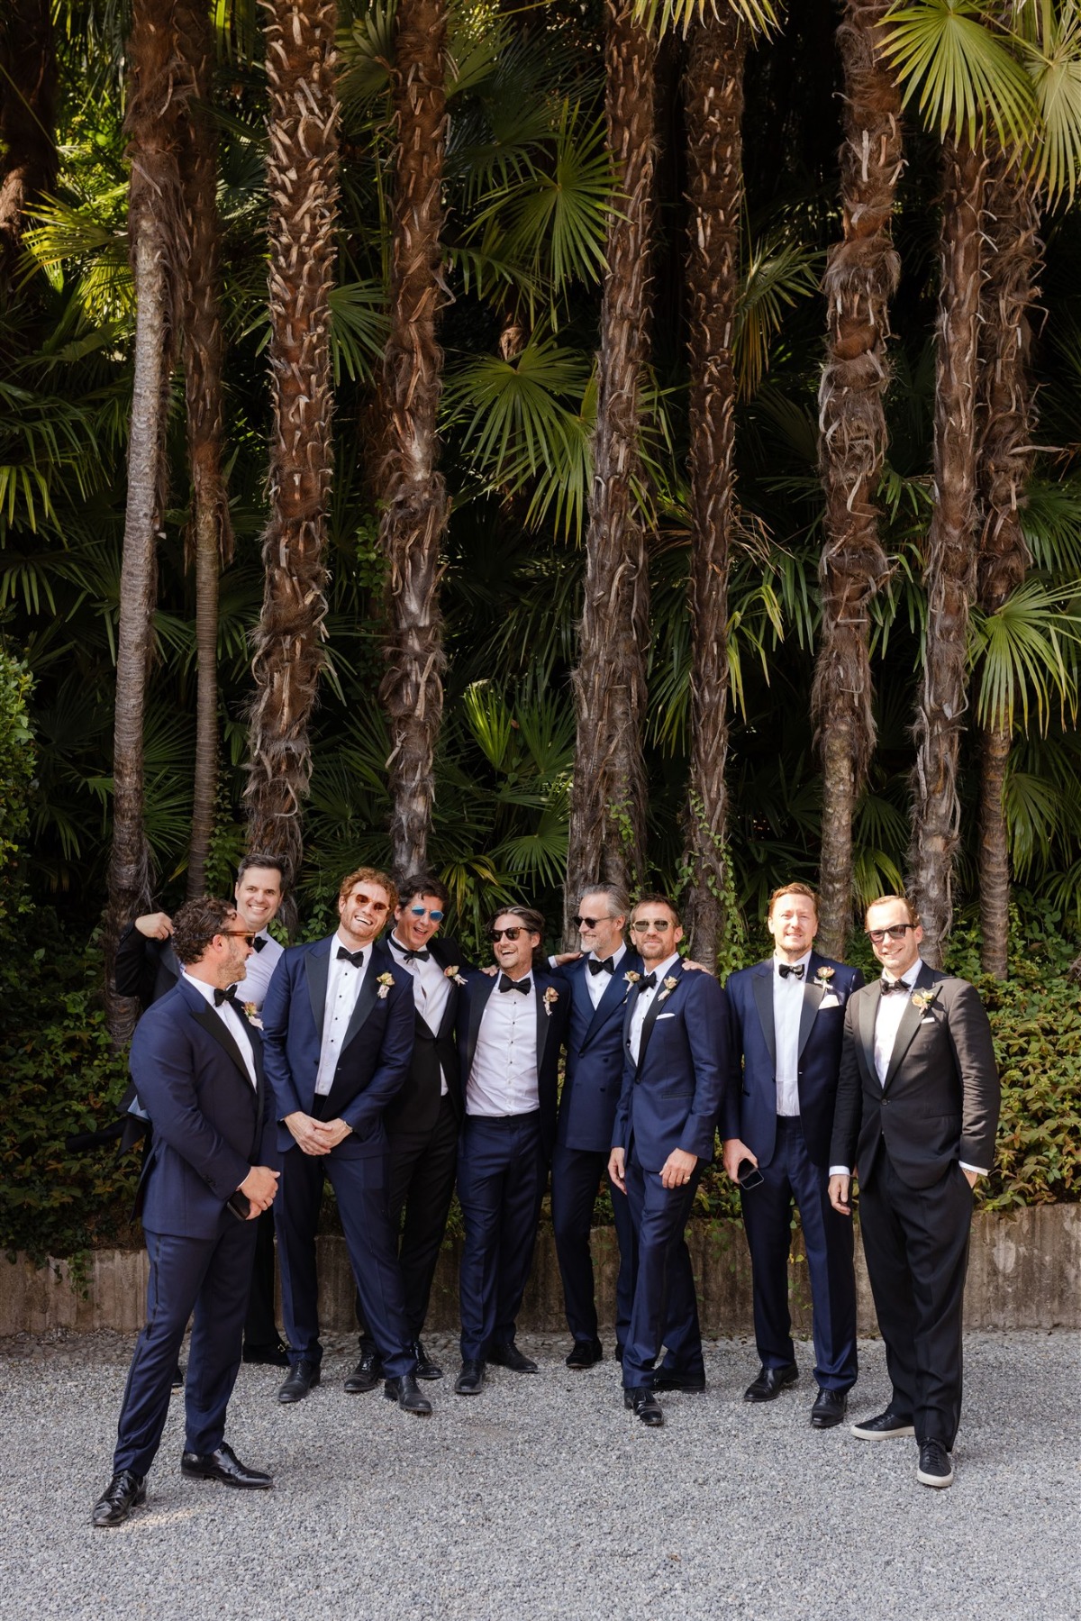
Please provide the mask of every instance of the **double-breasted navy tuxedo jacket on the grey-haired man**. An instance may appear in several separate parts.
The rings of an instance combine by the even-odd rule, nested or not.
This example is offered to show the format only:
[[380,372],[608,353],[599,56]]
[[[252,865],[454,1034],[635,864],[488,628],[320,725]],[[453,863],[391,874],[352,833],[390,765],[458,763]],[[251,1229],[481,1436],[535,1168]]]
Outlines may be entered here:
[[570,989],[570,1023],[556,1141],[562,1148],[606,1154],[622,1091],[622,1026],[630,995],[626,974],[640,974],[642,958],[637,952],[624,953],[596,1008],[590,1002],[587,963],[588,958],[580,956],[559,969]]

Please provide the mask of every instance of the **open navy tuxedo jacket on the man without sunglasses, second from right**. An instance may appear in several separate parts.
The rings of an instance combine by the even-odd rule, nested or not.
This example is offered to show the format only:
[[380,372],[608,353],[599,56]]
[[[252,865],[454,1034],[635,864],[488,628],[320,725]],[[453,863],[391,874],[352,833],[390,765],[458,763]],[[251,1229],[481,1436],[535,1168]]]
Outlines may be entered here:
[[[828,984],[818,969],[831,969]],[[724,1094],[721,1136],[737,1136],[768,1165],[776,1144],[776,1036],[773,1029],[773,958],[729,974],[731,1084]],[[841,1068],[844,1007],[864,982],[857,968],[810,953],[804,1005],[799,1016],[799,1118],[807,1154],[815,1165],[830,1165],[833,1104]]]

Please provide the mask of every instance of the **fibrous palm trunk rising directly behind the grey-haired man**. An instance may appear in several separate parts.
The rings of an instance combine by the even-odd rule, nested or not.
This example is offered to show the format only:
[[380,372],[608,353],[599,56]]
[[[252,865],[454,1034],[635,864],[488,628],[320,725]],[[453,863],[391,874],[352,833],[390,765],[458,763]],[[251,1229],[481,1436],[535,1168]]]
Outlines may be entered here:
[[608,217],[585,593],[574,673],[577,746],[567,840],[570,917],[590,883],[632,890],[645,867],[645,660],[650,575],[640,514],[639,391],[648,361],[656,45],[629,0],[606,5]]

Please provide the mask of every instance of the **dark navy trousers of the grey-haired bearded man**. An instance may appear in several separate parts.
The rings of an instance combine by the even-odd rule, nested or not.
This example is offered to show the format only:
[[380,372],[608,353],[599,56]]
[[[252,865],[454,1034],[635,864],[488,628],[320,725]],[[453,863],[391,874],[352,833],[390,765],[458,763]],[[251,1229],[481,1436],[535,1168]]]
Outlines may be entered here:
[[[556,1237],[559,1276],[562,1277],[567,1328],[575,1341],[598,1337],[590,1229],[598,1183],[601,1177],[608,1180],[606,1167],[608,1153],[562,1148],[559,1143],[551,1159],[551,1224]],[[626,1193],[621,1193],[611,1182],[608,1185],[616,1217],[616,1238],[619,1240],[616,1345],[622,1347],[630,1328],[634,1234]]]

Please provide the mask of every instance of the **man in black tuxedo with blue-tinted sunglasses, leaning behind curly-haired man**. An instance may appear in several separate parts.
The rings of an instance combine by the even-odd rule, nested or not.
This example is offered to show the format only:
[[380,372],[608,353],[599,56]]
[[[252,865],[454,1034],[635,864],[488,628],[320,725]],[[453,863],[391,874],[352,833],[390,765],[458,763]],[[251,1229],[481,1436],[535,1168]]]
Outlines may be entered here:
[[[386,937],[394,961],[412,974],[417,1008],[413,1059],[382,1123],[391,1143],[391,1227],[395,1234],[402,1227],[399,1264],[418,1379],[442,1378],[442,1368],[428,1357],[420,1336],[447,1229],[462,1123],[455,1024],[459,981],[472,969],[460,945],[439,937],[449,901],[439,879],[426,872],[410,874],[400,887],[394,927]],[[382,1376],[379,1350],[365,1324],[360,1297],[357,1318],[361,1328],[360,1362],[345,1379],[350,1392],[371,1391]]]

